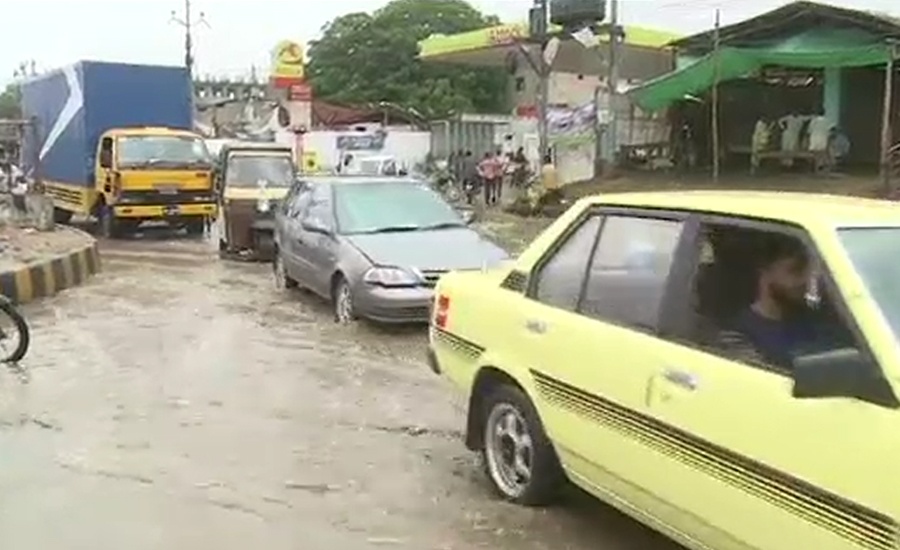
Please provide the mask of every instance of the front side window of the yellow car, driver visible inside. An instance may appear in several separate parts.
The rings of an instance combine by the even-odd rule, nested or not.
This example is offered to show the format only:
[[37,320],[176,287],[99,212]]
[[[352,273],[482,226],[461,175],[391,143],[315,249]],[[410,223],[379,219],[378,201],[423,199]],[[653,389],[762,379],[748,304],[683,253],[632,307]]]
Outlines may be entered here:
[[[725,359],[789,374],[793,360],[841,348],[862,349],[843,318],[840,296],[823,284],[827,269],[817,251],[801,238],[780,230],[762,230],[729,224],[704,224],[702,251],[694,269],[690,293],[689,319],[677,338]],[[773,228],[774,229],[774,228]],[[763,267],[773,258],[791,250],[805,251],[802,271],[777,270],[774,282],[761,285]],[[710,261],[705,262],[704,260]],[[800,274],[802,277],[798,277]],[[774,285],[774,286],[773,286]],[[785,338],[767,321],[752,314],[762,288],[773,294],[773,302],[789,308],[791,321],[783,325]]]

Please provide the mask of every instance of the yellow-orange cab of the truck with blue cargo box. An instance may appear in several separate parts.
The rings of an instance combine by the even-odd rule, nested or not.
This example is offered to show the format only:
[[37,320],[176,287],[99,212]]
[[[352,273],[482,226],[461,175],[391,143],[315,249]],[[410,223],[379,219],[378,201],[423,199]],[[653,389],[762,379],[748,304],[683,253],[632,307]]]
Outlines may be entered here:
[[109,130],[98,144],[91,211],[113,237],[144,221],[203,233],[216,213],[212,163],[203,139],[169,128]]

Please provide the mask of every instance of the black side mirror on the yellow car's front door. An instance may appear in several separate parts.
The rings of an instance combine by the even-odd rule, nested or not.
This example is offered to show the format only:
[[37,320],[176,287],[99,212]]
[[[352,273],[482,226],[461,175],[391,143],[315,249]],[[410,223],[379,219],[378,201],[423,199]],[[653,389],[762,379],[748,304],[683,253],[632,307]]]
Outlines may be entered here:
[[793,396],[797,399],[850,397],[900,406],[883,373],[855,348],[798,357],[793,378]]

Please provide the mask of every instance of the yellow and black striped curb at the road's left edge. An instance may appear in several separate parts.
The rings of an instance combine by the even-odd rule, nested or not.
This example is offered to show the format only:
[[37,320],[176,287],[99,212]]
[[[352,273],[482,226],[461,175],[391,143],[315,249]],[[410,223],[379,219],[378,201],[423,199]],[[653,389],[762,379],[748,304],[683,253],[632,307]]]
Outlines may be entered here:
[[0,292],[24,304],[78,286],[99,271],[100,253],[92,239],[71,252],[0,273]]

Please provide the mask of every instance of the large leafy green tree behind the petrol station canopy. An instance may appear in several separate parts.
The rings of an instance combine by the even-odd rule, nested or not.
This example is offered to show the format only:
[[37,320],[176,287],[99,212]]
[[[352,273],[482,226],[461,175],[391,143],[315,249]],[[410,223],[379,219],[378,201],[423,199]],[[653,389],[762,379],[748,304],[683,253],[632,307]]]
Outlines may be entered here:
[[502,112],[505,71],[423,63],[418,43],[496,25],[464,0],[394,0],[368,13],[338,17],[311,44],[308,77],[317,97],[348,103],[396,103],[429,118]]

